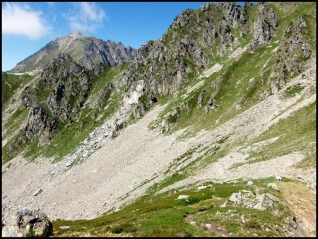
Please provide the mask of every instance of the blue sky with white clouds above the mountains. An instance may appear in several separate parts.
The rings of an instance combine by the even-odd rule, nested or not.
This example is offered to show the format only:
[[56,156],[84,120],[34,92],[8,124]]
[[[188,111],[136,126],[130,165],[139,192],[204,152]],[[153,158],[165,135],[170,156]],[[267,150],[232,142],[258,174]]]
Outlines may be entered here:
[[[204,2],[2,2],[2,71],[58,37],[81,32],[139,48]],[[243,4],[243,3],[240,3]]]

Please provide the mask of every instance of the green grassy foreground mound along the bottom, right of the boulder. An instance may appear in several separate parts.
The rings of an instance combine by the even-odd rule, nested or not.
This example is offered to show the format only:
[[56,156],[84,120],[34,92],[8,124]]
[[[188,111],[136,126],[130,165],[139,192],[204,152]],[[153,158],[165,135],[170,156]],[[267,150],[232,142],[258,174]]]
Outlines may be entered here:
[[[284,235],[279,229],[282,228],[283,217],[290,213],[288,208],[280,204],[278,210],[281,216],[273,216],[272,210],[259,211],[247,209],[242,206],[220,207],[225,199],[233,192],[239,190],[254,190],[256,187],[266,187],[266,183],[273,182],[273,178],[255,180],[253,186],[247,186],[245,182],[236,183],[212,183],[206,182],[206,189],[196,190],[196,187],[179,189],[179,192],[164,192],[154,195],[153,193],[136,200],[131,205],[124,206],[119,211],[112,212],[93,220],[78,221],[53,221],[55,236],[220,236],[220,232],[208,231],[201,223],[213,223],[216,227],[222,226],[227,233],[233,236],[252,236],[257,233],[260,236]],[[264,189],[265,190],[265,189]],[[280,197],[280,193],[269,190],[271,194]],[[153,191],[148,191],[153,192]],[[189,195],[187,199],[177,199],[180,194]],[[232,210],[234,217],[226,214]],[[222,215],[216,216],[220,211]],[[246,223],[240,221],[244,215]],[[196,221],[192,225],[187,221]],[[70,226],[67,230],[61,230],[59,226]],[[278,225],[276,228],[275,225]],[[271,231],[265,231],[265,227]]]

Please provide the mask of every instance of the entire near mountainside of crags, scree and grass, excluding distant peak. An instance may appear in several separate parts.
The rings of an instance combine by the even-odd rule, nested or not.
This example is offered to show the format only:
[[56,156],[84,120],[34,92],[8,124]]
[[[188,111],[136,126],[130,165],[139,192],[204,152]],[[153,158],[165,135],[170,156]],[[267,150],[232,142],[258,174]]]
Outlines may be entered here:
[[3,220],[37,206],[59,236],[316,235],[316,14],[204,4],[124,64],[58,54],[6,96]]

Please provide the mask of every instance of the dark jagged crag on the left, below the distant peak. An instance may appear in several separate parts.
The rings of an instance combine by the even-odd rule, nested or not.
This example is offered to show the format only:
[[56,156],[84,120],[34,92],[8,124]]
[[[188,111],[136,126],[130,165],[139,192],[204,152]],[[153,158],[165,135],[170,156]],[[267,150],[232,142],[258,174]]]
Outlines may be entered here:
[[34,86],[23,91],[21,103],[29,110],[28,119],[8,145],[7,153],[18,153],[35,139],[40,146],[50,141],[59,124],[71,124],[78,118],[90,86],[90,73],[68,54],[59,54],[45,66]]

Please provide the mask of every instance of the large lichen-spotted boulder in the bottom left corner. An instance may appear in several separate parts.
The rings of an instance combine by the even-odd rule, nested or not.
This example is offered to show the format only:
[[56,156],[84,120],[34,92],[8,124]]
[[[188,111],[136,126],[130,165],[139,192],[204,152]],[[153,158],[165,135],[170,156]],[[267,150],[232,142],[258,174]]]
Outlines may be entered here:
[[39,210],[22,209],[12,216],[11,224],[2,228],[3,237],[44,237],[53,235],[49,218]]

